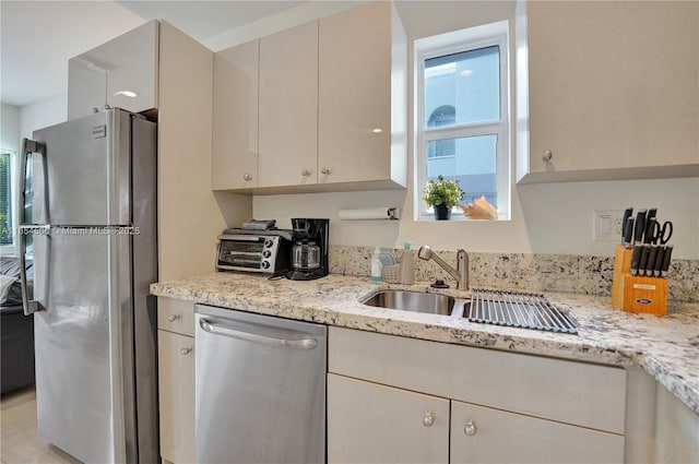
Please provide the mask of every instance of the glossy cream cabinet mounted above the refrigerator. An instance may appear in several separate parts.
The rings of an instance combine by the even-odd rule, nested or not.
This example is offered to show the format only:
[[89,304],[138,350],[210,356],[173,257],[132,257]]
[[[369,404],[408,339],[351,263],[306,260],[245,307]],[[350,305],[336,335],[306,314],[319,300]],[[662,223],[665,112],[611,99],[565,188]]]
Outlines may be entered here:
[[157,108],[159,23],[151,21],[68,62],[68,119],[105,105]]

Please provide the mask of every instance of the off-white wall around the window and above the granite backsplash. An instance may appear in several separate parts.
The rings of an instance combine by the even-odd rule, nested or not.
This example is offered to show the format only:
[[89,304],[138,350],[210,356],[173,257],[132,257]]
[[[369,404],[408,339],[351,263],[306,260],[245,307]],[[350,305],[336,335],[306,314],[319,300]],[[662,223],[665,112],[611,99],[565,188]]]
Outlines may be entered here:
[[[396,4],[410,40],[464,27],[471,20],[496,21],[513,14],[512,2]],[[258,29],[264,34],[264,27]],[[250,36],[251,32],[247,29],[246,34]],[[408,157],[412,179],[412,148]],[[340,209],[381,205],[402,207],[403,218],[395,223],[337,218]],[[593,211],[628,206],[657,207],[660,219],[674,222],[674,257],[699,259],[699,178],[516,185],[511,221],[497,223],[413,221],[412,186],[407,191],[258,195],[253,215],[276,218],[281,227],[291,226],[291,217],[329,217],[334,245],[401,248],[403,240],[412,240],[415,246],[429,243],[436,249],[613,255],[614,242],[592,239]]]

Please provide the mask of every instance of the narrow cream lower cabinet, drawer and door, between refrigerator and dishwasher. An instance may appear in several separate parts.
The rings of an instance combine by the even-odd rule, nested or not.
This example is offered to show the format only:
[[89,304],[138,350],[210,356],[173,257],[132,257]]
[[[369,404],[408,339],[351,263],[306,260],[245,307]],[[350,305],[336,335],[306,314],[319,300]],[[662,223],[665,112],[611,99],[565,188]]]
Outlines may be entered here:
[[157,316],[161,457],[193,463],[194,308],[191,301],[159,297]]

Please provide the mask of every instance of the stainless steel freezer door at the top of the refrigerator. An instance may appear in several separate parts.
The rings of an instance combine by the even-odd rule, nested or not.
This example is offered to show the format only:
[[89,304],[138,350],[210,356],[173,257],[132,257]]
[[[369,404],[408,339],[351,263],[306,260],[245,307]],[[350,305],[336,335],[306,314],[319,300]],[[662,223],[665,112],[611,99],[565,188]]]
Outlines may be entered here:
[[45,156],[32,154],[27,166],[31,224],[131,224],[130,140],[131,115],[121,109],[35,131]]

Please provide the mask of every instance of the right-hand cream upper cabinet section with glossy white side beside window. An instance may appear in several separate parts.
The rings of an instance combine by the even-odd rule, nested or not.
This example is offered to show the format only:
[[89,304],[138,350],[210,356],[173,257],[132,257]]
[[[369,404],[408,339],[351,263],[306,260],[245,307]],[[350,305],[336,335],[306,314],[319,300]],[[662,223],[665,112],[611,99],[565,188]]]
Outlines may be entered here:
[[319,20],[318,182],[405,187],[406,49],[392,2]]

